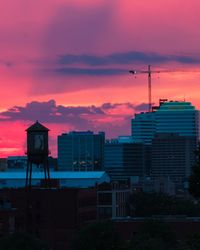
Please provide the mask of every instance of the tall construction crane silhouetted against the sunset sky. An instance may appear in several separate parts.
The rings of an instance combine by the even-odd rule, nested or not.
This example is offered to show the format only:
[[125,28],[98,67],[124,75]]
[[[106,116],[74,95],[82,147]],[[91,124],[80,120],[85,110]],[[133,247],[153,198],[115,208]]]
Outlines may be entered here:
[[148,65],[147,70],[129,70],[129,73],[136,75],[136,74],[147,74],[148,75],[148,111],[152,111],[152,100],[151,100],[151,75],[153,73],[160,73],[160,71],[153,71],[151,70],[151,65]]

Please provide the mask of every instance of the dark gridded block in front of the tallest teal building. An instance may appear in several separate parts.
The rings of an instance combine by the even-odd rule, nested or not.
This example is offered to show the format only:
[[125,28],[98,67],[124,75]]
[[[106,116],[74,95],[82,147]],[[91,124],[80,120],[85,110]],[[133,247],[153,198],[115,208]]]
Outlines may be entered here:
[[195,161],[196,138],[175,133],[157,134],[152,141],[151,176],[183,184]]

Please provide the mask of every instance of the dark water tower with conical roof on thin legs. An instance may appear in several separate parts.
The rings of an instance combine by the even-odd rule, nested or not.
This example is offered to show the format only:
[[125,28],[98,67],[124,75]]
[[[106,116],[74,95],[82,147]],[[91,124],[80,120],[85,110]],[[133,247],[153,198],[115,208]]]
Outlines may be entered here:
[[44,170],[44,184],[50,185],[49,174],[49,146],[48,132],[49,129],[36,121],[32,126],[26,129],[27,132],[27,169],[26,169],[26,187],[31,187],[32,165],[42,167]]

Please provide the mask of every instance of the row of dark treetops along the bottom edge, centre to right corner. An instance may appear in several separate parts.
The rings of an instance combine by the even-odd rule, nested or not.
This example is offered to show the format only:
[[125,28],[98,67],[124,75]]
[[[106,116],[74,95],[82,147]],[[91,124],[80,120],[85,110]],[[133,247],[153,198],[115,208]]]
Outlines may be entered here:
[[112,222],[97,222],[83,228],[73,241],[71,250],[199,250],[200,234],[184,240],[176,239],[167,223],[146,220],[137,234],[124,241]]

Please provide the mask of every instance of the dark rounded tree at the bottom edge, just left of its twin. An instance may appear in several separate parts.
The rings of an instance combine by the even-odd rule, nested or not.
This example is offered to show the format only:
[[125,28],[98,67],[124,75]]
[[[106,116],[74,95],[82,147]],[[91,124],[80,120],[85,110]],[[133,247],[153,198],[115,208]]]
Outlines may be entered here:
[[118,250],[122,240],[110,221],[96,222],[80,230],[72,250]]

